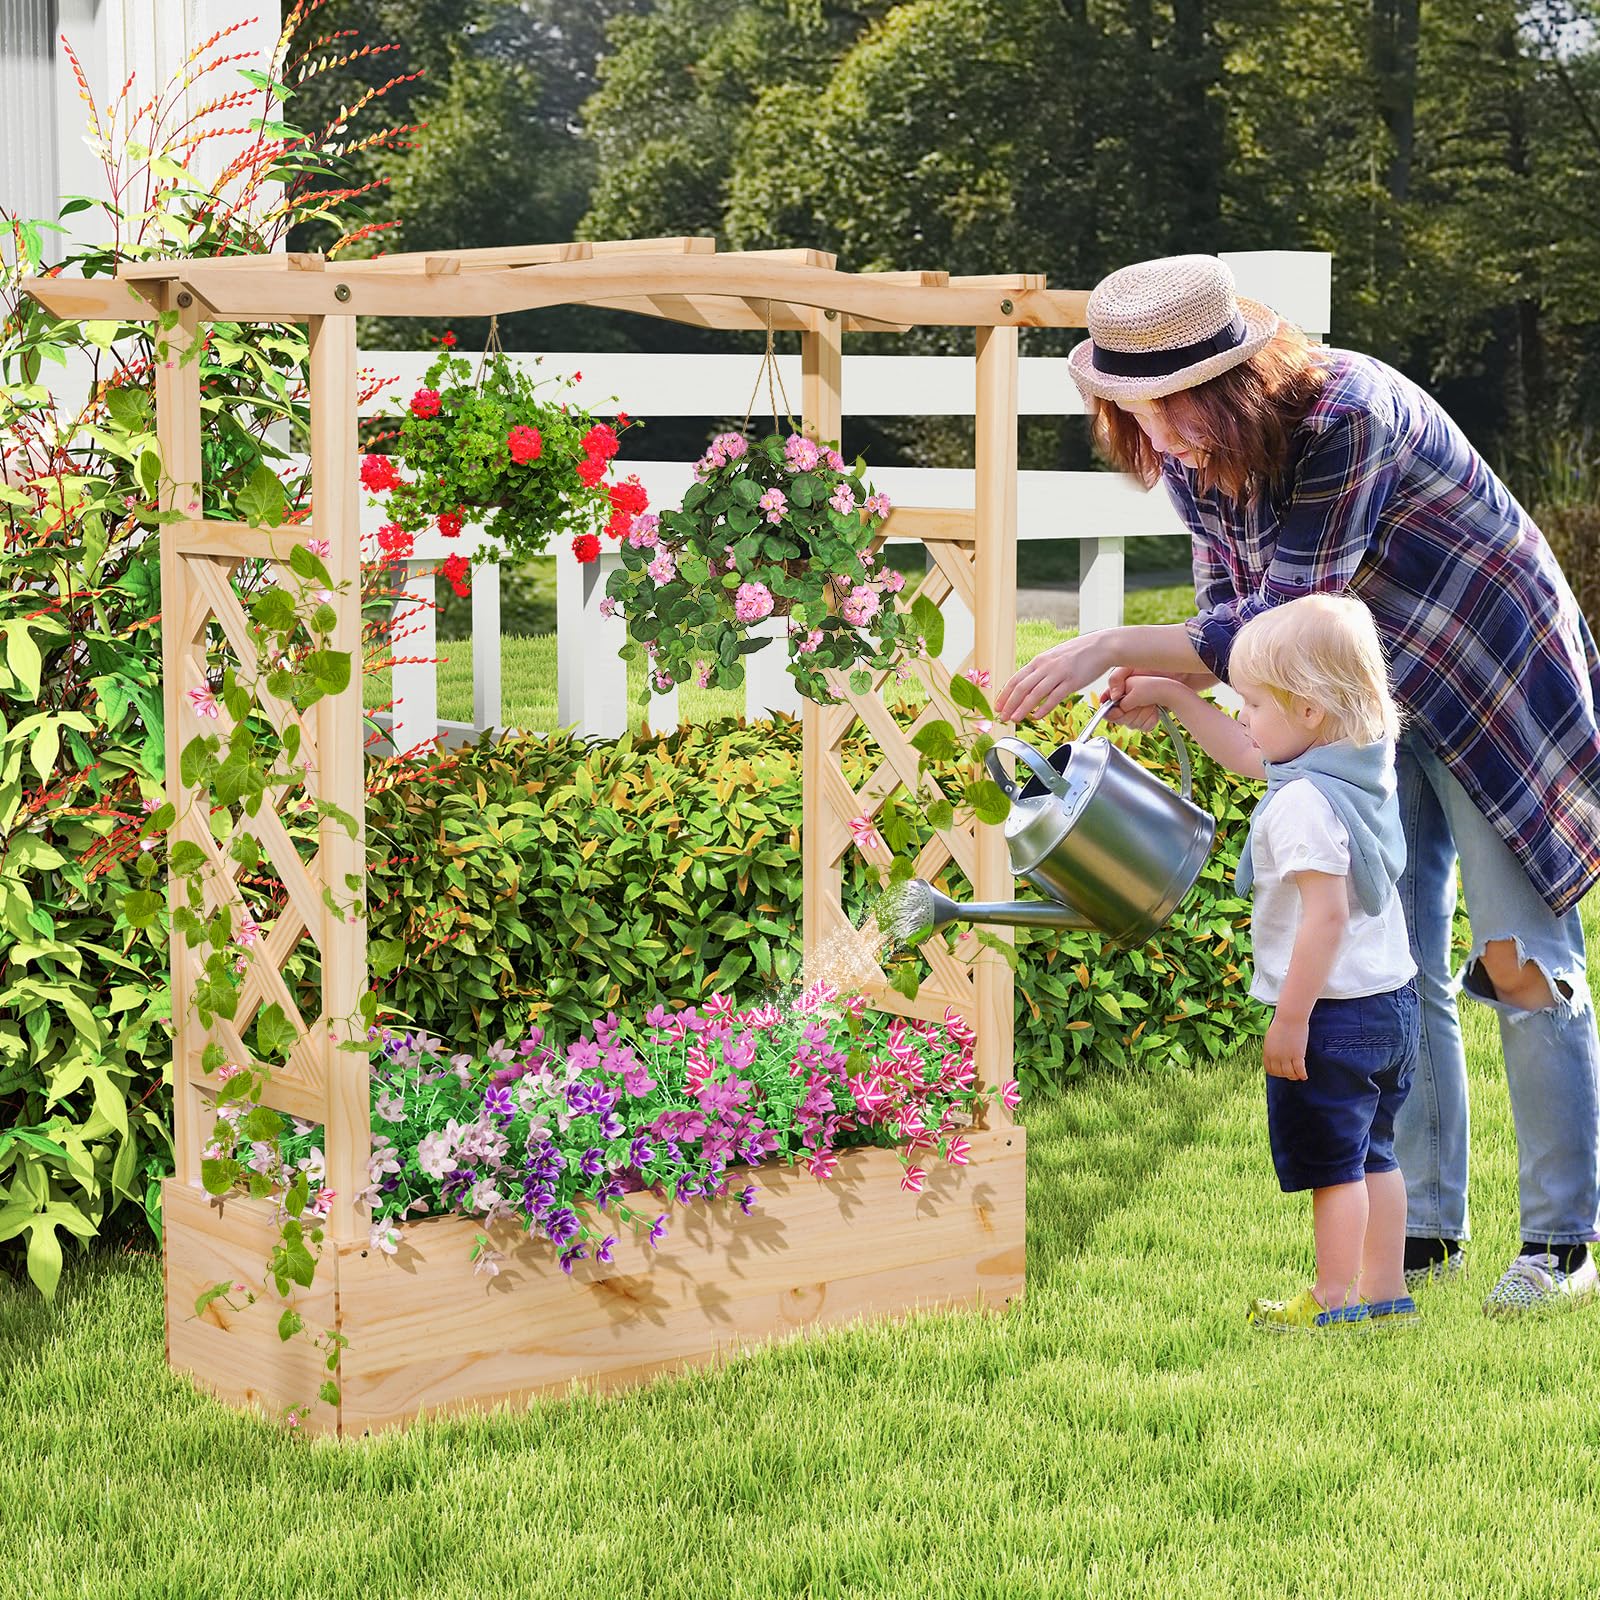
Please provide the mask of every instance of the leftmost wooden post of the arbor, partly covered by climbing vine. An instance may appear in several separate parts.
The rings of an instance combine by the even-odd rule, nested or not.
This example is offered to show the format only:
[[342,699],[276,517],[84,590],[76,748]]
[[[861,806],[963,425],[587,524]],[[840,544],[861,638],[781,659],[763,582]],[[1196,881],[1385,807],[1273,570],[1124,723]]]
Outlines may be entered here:
[[[184,354],[195,341],[200,312],[181,309],[176,288],[166,285],[162,299],[163,310],[178,314],[174,326],[166,330],[157,344],[155,362],[155,438],[162,453],[162,510],[176,510],[184,517],[200,515],[202,456],[200,456],[200,363],[184,362]],[[187,627],[192,587],[189,566],[178,550],[176,523],[162,530],[162,682],[166,717],[166,798],[179,818],[190,808],[208,805],[203,790],[190,789],[182,781],[181,754],[186,734],[195,730],[194,717],[184,717],[184,688],[189,677],[186,658],[198,656],[205,670],[205,629],[200,627],[200,645]],[[174,834],[176,837],[176,834]],[[187,904],[187,886],[182,878],[168,875],[168,912]],[[205,1029],[194,1014],[194,973],[189,944],[173,933],[170,946],[171,1002],[173,1002],[173,1163],[181,1182],[200,1182],[200,1053],[205,1048]]]

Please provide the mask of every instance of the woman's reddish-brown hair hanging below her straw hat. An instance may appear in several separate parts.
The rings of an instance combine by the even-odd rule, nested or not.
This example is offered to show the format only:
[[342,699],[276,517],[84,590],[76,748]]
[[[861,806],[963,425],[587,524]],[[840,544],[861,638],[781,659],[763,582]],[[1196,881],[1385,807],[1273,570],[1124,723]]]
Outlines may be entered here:
[[[1179,438],[1205,453],[1200,490],[1245,504],[1278,488],[1290,464],[1290,435],[1312,408],[1326,370],[1291,323],[1248,362],[1174,395],[1152,402]],[[1144,429],[1115,402],[1094,403],[1094,448],[1120,472],[1154,486],[1162,458]]]

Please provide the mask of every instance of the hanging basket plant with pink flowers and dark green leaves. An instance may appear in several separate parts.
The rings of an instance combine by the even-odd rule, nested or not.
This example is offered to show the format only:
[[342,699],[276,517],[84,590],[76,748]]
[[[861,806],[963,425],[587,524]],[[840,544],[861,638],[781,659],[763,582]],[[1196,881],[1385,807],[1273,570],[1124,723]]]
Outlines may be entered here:
[[872,549],[890,501],[864,472],[800,434],[712,440],[683,507],[637,517],[606,584],[651,688],[738,688],[742,658],[771,643],[752,632],[768,618],[787,621],[789,672],[822,704],[837,699],[827,669],[888,667],[915,643],[893,598],[906,579]]

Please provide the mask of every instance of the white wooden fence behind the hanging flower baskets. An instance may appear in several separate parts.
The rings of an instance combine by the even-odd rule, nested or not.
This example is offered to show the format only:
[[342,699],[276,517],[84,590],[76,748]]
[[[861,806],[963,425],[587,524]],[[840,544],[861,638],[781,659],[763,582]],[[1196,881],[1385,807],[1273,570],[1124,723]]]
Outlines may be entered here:
[[[1331,258],[1318,251],[1250,251],[1224,256],[1240,293],[1266,301],[1299,323],[1312,338],[1328,328]],[[394,395],[410,395],[427,366],[429,352],[373,350],[363,365],[392,373],[395,384],[373,403],[389,410]],[[637,355],[600,352],[547,352],[514,360],[542,360],[547,373],[581,373],[570,390],[574,403],[595,416],[618,410],[638,418],[701,416],[739,418],[750,398],[758,366],[755,355]],[[800,358],[782,357],[781,373],[789,397],[798,405]],[[765,386],[763,386],[765,387]],[[765,402],[765,395],[762,397]],[[1059,357],[1021,360],[1018,408],[1022,416],[1080,414],[1083,403]],[[760,408],[757,408],[760,410]],[[974,411],[973,360],[965,355],[846,355],[843,362],[845,453],[850,453],[851,416],[971,416]],[[677,506],[694,482],[690,462],[627,461],[619,458],[616,477],[637,474],[650,491],[651,509]],[[973,474],[936,467],[885,467],[870,470],[872,483],[896,506],[973,504]],[[1021,472],[1018,475],[1018,538],[1072,539],[1080,558],[1080,629],[1115,626],[1123,606],[1123,552],[1128,539],[1182,533],[1166,494],[1144,493],[1110,472]],[[378,507],[363,512],[363,533],[382,520]],[[397,646],[402,656],[421,662],[392,669],[394,712],[390,741],[408,750],[435,734],[445,744],[472,739],[502,726],[501,710],[501,605],[499,568],[478,562],[482,534],[466,528],[459,539],[419,534],[406,563],[405,605],[408,637]],[[629,704],[627,669],[618,651],[626,642],[621,619],[600,613],[608,576],[621,565],[614,547],[597,562],[579,565],[565,547],[557,557],[557,722],[581,734],[614,738],[637,722],[638,706]],[[432,602],[435,570],[446,555],[472,562],[472,722],[438,717],[437,667],[440,653]],[[782,624],[768,624],[778,638]],[[962,659],[973,642],[971,616],[952,597],[946,605],[947,661]],[[794,683],[784,670],[779,646],[746,658],[746,715],[763,717],[800,709]],[[677,691],[651,699],[651,728],[677,726]]]

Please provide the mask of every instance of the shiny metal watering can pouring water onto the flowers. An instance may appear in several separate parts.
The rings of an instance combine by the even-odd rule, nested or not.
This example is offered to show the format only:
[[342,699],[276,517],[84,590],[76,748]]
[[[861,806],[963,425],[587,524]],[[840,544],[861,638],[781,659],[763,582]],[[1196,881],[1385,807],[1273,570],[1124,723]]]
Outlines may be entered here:
[[[1093,738],[1107,701],[1070,744],[1046,762],[1021,739],[997,739],[986,763],[1011,802],[1005,819],[1011,870],[1048,899],[958,906],[914,878],[896,907],[896,930],[931,931],[949,922],[1070,928],[1110,944],[1142,944],[1189,893],[1216,837],[1216,822],[1192,800],[1189,749],[1171,717],[1162,726],[1178,750],[1182,792],[1173,794],[1110,739]],[[1008,750],[1032,771],[1022,789],[1006,776]]]

